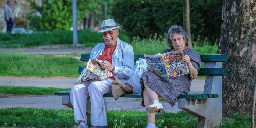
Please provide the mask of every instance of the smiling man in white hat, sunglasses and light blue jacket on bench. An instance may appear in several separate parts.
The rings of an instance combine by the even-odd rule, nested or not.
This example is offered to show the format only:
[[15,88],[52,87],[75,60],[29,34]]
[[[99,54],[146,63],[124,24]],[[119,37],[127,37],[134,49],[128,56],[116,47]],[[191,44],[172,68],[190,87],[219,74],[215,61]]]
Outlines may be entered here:
[[103,100],[103,94],[111,93],[113,80],[125,82],[129,79],[124,69],[131,69],[134,62],[133,47],[118,38],[119,26],[113,19],[103,20],[101,30],[105,43],[97,44],[91,51],[90,59],[99,59],[101,68],[109,70],[113,76],[103,80],[84,81],[78,85],[72,85],[70,101],[74,108],[75,122],[77,128],[87,128],[86,104],[87,98],[91,101],[91,125],[95,128],[107,126],[107,110]]

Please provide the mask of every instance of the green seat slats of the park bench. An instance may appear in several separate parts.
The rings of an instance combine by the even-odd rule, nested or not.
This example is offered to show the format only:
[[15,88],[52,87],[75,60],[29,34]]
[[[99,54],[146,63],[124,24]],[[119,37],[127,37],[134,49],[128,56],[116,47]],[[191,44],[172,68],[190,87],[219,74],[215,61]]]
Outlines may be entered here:
[[[67,91],[55,91],[54,95],[64,96],[69,95],[70,90]],[[104,97],[113,97],[111,93],[104,94]],[[129,97],[129,98],[141,98],[140,94],[123,94],[121,97]],[[178,99],[207,99],[207,98],[217,98],[218,94],[183,94],[178,97]]]

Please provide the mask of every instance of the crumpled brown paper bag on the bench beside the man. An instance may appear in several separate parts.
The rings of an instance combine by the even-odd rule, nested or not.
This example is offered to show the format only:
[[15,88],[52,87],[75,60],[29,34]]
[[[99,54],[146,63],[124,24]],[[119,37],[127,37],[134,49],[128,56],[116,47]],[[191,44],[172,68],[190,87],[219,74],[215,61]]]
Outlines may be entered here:
[[114,80],[111,84],[111,93],[113,98],[117,100],[123,94],[133,94],[133,87],[129,83],[123,83],[119,80]]

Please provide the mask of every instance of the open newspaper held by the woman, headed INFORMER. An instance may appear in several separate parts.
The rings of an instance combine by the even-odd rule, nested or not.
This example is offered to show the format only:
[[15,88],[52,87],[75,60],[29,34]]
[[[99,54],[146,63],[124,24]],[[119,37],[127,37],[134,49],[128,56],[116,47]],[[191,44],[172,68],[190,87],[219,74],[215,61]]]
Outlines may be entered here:
[[161,79],[169,80],[176,76],[181,76],[189,73],[187,64],[182,62],[182,51],[171,51],[163,54],[145,55],[148,66]]

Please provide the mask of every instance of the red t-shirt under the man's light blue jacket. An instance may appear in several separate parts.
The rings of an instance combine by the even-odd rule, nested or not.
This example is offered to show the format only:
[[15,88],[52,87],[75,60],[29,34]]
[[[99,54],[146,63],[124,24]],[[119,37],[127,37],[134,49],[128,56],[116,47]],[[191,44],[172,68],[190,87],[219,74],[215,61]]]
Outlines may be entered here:
[[[112,56],[114,54],[115,49],[116,49],[116,45],[109,47],[107,46],[107,44],[105,44],[104,51],[102,51],[102,54],[97,59],[102,61],[108,61],[109,63],[112,64]],[[110,79],[115,80],[114,75],[110,77]]]

